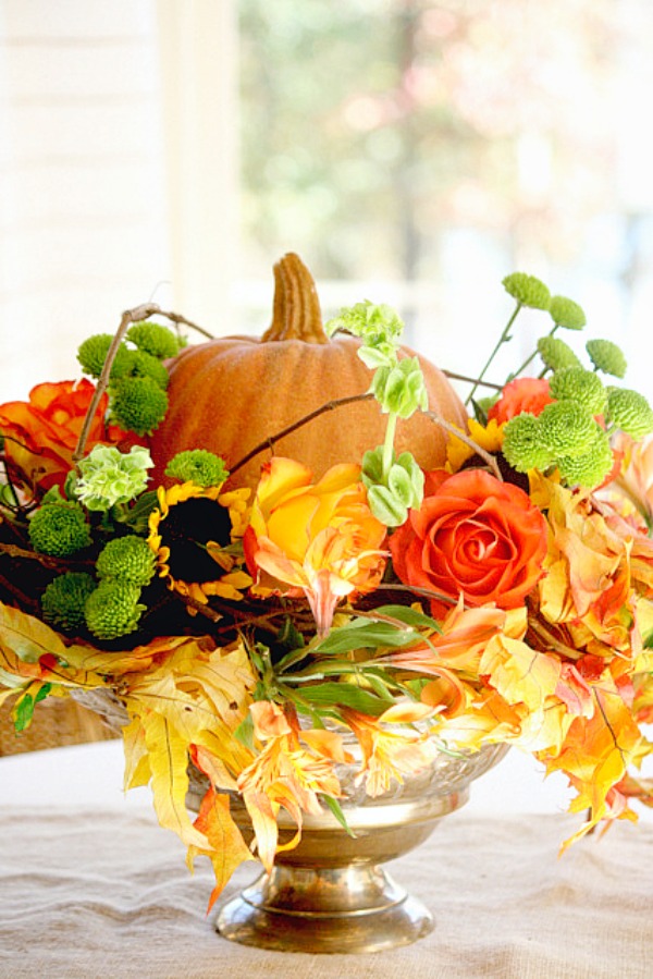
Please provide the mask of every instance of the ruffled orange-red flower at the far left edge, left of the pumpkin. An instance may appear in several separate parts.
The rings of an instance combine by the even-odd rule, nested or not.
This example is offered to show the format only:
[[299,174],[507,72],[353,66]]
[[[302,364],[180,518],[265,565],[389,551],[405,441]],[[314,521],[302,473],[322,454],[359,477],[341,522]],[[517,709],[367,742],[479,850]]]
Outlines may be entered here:
[[[63,486],[94,393],[94,384],[86,379],[60,381],[37,384],[29,392],[28,402],[0,405],[4,454],[19,478],[41,490]],[[88,433],[87,451],[99,442],[119,442],[123,438],[119,428],[104,424],[107,403],[102,395]]]

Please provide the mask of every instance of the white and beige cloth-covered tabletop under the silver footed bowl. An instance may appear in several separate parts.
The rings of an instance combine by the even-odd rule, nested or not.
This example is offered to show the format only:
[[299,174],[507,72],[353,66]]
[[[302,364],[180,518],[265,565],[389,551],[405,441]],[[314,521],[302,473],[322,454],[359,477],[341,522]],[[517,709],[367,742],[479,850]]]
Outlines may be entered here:
[[[510,755],[393,877],[434,931],[371,955],[263,952],[225,941],[147,791],[123,798],[118,743],[0,759],[0,977],[42,979],[650,979],[653,822],[619,823],[558,859],[578,819]],[[247,865],[225,898],[257,873]]]

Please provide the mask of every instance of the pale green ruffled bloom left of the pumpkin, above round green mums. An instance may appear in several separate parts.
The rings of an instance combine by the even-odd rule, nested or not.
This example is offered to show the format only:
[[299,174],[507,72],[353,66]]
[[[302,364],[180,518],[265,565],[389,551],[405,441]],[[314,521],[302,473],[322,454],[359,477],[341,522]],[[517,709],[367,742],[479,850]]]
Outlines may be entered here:
[[114,445],[95,445],[79,462],[81,478],[74,488],[75,495],[87,510],[98,512],[128,503],[147,486],[147,469],[152,466],[151,456],[143,445],[133,445],[130,452],[120,452]]

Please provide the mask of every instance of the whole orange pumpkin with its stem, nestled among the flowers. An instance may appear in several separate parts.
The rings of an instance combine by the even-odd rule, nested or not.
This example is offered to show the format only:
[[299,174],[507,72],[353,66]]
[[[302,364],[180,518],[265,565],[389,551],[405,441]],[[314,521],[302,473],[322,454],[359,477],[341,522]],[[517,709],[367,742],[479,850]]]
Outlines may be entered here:
[[[232,468],[255,446],[273,439],[326,402],[364,394],[371,371],[349,335],[329,340],[310,272],[294,254],[274,267],[272,326],[259,338],[224,336],[183,350],[169,364],[170,408],[151,439],[155,479],[175,453],[208,449]],[[406,355],[412,351],[403,347]],[[420,357],[430,407],[465,427],[467,414],[445,376]],[[256,486],[271,452],[304,463],[319,478],[335,463],[359,463],[383,442],[387,416],[375,401],[349,403],[274,441],[229,481]],[[446,435],[417,413],[397,427],[397,454],[409,449],[426,469],[442,465]]]

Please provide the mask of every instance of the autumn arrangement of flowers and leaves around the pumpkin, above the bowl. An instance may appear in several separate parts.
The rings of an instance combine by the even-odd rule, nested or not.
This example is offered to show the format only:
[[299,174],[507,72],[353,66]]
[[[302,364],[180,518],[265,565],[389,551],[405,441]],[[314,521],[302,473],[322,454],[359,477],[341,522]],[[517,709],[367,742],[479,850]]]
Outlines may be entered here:
[[[21,731],[48,696],[120,701],[125,787],[150,783],[189,865],[212,861],[211,901],[252,849],[272,866],[281,809],[286,846],[323,807],[346,827],[345,733],[372,797],[439,751],[506,744],[567,776],[587,812],[572,840],[652,804],[653,412],[613,383],[615,344],[589,341],[583,366],[557,335],[583,328],[576,303],[523,273],[504,286],[495,352],[522,307],[551,328],[505,384],[485,380],[490,358],[467,431],[434,420],[449,441],[432,472],[395,454],[397,419],[427,396],[398,316],[370,303],[328,330],[359,338],[386,438],[317,480],[273,456],[254,491],[230,488],[197,446],[150,485],[186,342],[157,307],[82,344],[91,380],[0,406],[0,702]],[[189,764],[207,779],[196,818]]]

